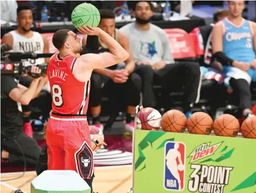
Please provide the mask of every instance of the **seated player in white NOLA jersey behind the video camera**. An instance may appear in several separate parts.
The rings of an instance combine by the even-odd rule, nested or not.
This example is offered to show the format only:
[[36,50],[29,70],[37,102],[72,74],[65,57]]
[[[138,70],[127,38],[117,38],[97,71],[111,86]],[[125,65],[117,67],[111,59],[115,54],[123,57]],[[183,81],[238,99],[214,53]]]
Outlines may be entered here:
[[[39,32],[31,30],[33,24],[33,14],[31,9],[27,5],[19,5],[17,8],[17,22],[18,29],[6,33],[1,44],[9,44],[12,46],[13,52],[34,52],[36,54],[49,53],[48,41],[46,38],[40,35]],[[43,64],[48,59],[29,59],[25,62],[25,65]],[[23,76],[20,79],[20,84],[29,87],[31,79],[27,76]],[[30,106],[23,105],[23,131],[29,137],[33,137],[33,130],[30,124],[29,116],[31,114]]]

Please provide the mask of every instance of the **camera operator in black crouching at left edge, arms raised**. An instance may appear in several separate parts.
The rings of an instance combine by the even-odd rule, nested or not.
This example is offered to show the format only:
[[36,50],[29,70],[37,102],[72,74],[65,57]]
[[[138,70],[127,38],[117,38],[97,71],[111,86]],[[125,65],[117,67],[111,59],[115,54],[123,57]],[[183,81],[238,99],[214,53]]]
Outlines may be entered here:
[[31,78],[27,88],[17,83],[13,75],[1,75],[1,158],[9,163],[34,167],[40,156],[41,148],[36,141],[23,132],[21,104],[28,105],[38,95],[48,81],[47,75],[40,77],[41,70],[37,66],[26,72]]

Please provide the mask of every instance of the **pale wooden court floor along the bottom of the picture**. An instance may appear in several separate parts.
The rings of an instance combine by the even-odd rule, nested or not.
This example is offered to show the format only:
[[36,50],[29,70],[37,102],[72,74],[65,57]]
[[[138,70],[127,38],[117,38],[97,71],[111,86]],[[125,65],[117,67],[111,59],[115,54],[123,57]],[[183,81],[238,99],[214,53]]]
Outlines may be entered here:
[[[21,174],[22,172],[1,173],[1,180],[19,177]],[[1,182],[1,193],[14,193],[16,189],[30,193],[30,182],[35,177],[35,172],[26,172],[17,180]],[[131,188],[131,178],[131,165],[96,167],[93,191],[95,193],[126,193]]]

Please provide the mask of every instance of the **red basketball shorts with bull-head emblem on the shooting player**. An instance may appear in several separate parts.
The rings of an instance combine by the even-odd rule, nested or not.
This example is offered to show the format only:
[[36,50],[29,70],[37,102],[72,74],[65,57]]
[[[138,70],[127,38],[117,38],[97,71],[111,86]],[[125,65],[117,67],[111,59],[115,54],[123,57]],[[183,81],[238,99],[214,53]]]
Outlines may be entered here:
[[51,115],[46,128],[48,170],[74,170],[91,179],[94,163],[86,117]]

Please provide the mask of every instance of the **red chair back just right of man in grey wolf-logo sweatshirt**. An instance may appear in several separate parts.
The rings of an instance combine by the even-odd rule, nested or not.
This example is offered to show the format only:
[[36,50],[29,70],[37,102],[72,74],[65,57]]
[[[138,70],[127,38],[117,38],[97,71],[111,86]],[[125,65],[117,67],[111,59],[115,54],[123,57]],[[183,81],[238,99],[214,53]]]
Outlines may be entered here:
[[164,29],[171,46],[171,54],[174,59],[195,59],[194,42],[188,32],[173,28]]

